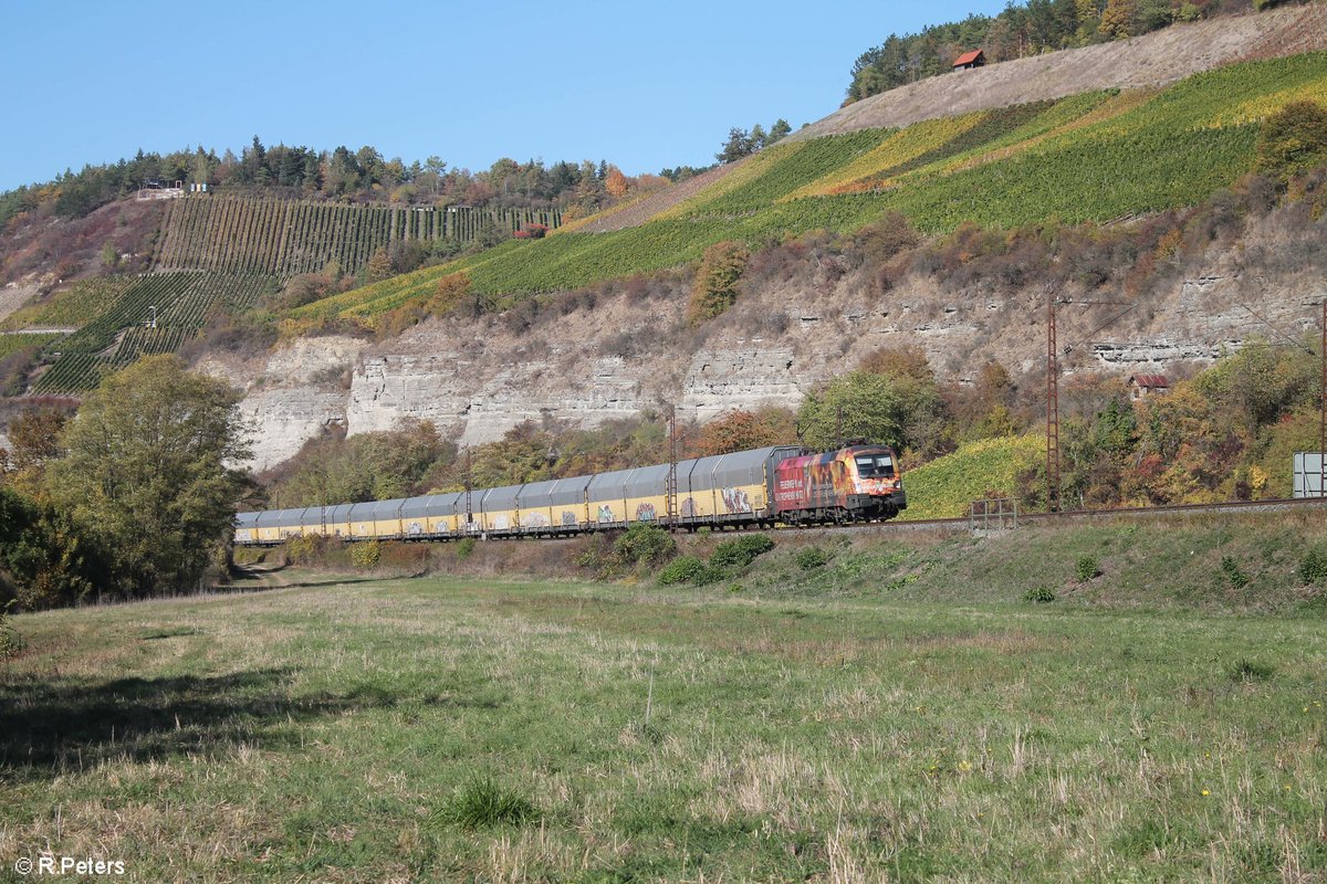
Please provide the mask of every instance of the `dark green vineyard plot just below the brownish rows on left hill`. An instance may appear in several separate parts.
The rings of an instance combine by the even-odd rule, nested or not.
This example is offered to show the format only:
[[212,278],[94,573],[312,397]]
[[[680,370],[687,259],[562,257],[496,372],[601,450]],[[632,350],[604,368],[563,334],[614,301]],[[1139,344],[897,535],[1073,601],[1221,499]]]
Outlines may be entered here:
[[[175,353],[215,313],[252,307],[279,288],[269,276],[183,272],[117,282],[125,284],[117,298],[102,301],[82,327],[46,345],[44,359],[49,367],[33,383],[33,392],[92,390],[105,371],[123,367],[141,355]],[[147,327],[153,307],[157,327]]]

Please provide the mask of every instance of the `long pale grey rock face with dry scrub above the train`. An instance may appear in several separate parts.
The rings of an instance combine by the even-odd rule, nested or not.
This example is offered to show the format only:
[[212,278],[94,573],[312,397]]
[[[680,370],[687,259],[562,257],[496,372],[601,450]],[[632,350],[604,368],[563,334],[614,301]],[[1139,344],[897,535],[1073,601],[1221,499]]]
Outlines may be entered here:
[[[1070,347],[1066,374],[1168,374],[1249,341],[1316,335],[1327,249],[1314,245],[1312,225],[1287,233],[1277,224],[1255,224],[1241,248],[1214,250],[1144,294],[1060,293],[1074,302],[1056,321],[1059,345]],[[703,423],[734,408],[796,408],[880,347],[918,346],[938,375],[958,382],[994,359],[1015,382],[1040,384],[1042,288],[955,292],[937,277],[905,276],[872,296],[861,272],[832,261],[752,284],[701,329],[687,326],[686,284],[674,281],[644,297],[609,290],[527,325],[510,315],[430,319],[387,342],[309,338],[260,362],[206,367],[247,387],[260,469],[337,424],[361,433],[430,420],[471,445],[527,420],[592,427],[673,407]],[[1132,306],[1121,313],[1095,300]]]

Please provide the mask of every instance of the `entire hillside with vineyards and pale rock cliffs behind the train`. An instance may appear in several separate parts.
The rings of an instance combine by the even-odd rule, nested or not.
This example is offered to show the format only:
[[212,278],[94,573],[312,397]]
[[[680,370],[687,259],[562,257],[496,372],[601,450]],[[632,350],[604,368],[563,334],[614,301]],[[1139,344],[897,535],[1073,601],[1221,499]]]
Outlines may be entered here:
[[[1315,321],[1316,197],[1278,205],[1238,183],[1267,115],[1327,101],[1327,52],[1271,57],[1319,46],[1323,15],[1294,7],[938,77],[543,240],[349,290],[374,253],[430,249],[480,220],[182,199],[162,215],[153,273],[66,288],[8,327],[81,327],[35,357],[33,388],[58,392],[222,323],[248,343],[200,363],[248,391],[259,467],[324,427],[399,417],[466,443],[527,419],[597,423],[661,403],[706,420],[795,403],[881,346],[917,345],[959,382],[994,359],[1031,384],[1047,285],[1139,307],[1071,370],[1202,364],[1258,334],[1245,306],[1282,327]],[[1202,52],[1176,52],[1193,44]],[[1249,60],[1218,66],[1231,58]],[[723,240],[744,241],[752,269],[736,309],[693,329],[687,266]],[[348,276],[311,302],[269,297],[329,265]],[[149,306],[162,315],[145,330]],[[1068,315],[1064,334],[1097,322]],[[284,345],[263,353],[277,329]]]

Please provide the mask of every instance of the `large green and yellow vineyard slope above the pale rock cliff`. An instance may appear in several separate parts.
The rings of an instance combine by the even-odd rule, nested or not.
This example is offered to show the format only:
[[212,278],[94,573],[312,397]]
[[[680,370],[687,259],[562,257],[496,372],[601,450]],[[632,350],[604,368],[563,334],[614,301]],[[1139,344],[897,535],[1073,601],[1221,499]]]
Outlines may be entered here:
[[1327,53],[1246,62],[1165,89],[780,143],[640,227],[503,247],[314,302],[295,317],[372,325],[377,313],[462,270],[494,298],[573,289],[694,261],[721,240],[759,247],[815,229],[851,232],[886,212],[943,233],[963,221],[1009,229],[1193,205],[1250,171],[1258,122],[1303,98],[1327,101]]

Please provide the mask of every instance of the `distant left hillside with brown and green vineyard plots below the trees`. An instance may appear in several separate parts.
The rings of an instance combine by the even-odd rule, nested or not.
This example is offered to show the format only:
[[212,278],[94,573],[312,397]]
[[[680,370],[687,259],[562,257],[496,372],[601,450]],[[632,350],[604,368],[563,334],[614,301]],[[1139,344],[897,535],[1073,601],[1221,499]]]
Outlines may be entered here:
[[[131,200],[12,237],[7,270],[40,266],[35,261],[41,254],[54,254],[60,256],[57,272],[80,277],[105,269],[107,247],[121,266],[113,276],[69,281],[29,272],[27,285],[0,290],[0,329],[77,329],[40,341],[32,392],[81,392],[96,387],[106,370],[139,355],[176,353],[208,323],[265,306],[295,276],[362,278],[376,254],[386,257],[402,247],[414,249],[418,264],[438,249],[454,253],[490,231],[500,237],[535,224],[556,229],[560,220],[556,209],[435,209],[210,195]],[[121,249],[127,252],[121,254]],[[23,345],[37,343],[33,335],[23,335]],[[15,342],[0,353],[19,349]]]

